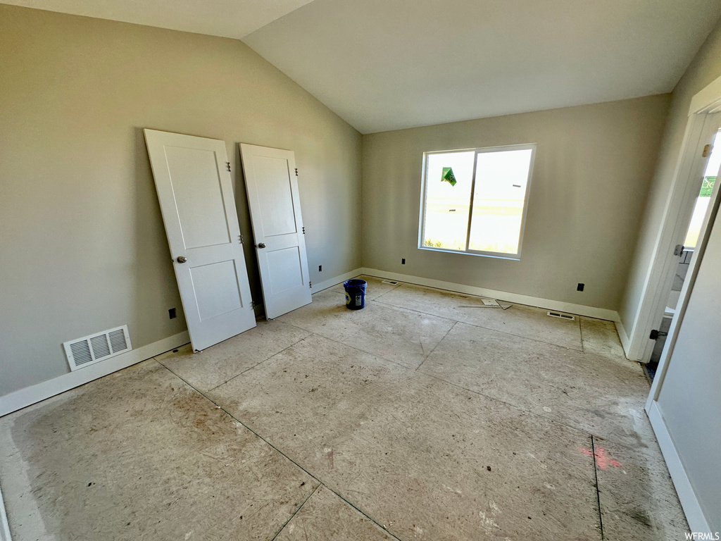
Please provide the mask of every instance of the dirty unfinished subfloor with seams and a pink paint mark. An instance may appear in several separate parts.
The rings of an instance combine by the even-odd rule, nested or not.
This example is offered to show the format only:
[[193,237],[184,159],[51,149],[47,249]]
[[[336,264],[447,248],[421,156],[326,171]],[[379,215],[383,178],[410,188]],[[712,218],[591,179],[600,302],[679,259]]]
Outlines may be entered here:
[[684,539],[611,322],[363,278],[0,418],[13,539]]

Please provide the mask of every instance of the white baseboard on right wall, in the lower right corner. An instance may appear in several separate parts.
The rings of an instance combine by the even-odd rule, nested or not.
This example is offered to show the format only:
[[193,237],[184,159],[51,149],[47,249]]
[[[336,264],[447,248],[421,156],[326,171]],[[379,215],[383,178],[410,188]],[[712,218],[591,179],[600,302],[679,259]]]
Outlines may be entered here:
[[[678,499],[681,501],[681,507],[684,508],[684,514],[686,514],[686,520],[689,522],[691,532],[710,532],[709,523],[699,505],[699,500],[696,498],[689,476],[686,475],[684,464],[681,462],[676,446],[673,445],[671,434],[668,434],[666,424],[663,422],[663,415],[661,415],[661,410],[658,408],[658,403],[653,402],[647,413],[658,440],[658,447],[661,448],[661,454],[663,454],[668,472],[671,474],[671,480],[674,488],[676,488]],[[711,538],[709,537],[709,539]]]

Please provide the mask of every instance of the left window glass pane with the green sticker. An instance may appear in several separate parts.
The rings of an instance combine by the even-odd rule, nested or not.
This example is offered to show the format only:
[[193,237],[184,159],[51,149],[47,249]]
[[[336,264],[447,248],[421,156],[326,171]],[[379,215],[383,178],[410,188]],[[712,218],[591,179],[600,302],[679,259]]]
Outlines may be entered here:
[[[466,250],[474,156],[474,151],[428,154],[424,246]],[[451,167],[456,185],[443,180],[443,167]]]

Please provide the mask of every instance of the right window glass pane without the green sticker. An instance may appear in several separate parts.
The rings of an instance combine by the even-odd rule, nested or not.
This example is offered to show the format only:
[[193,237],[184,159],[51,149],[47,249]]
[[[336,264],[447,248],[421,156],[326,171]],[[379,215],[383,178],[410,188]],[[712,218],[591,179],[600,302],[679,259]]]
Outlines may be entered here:
[[477,157],[471,250],[517,254],[531,149]]

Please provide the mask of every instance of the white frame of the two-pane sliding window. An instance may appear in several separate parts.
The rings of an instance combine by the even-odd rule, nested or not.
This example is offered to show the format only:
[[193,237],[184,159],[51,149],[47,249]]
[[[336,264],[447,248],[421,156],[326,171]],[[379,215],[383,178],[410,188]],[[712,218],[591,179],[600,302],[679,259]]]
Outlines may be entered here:
[[[509,150],[531,150],[531,161],[528,162],[528,180],[526,180],[526,193],[523,195],[523,214],[521,214],[521,233],[518,236],[518,253],[506,254],[502,252],[485,252],[482,250],[471,250],[471,225],[473,221],[473,199],[476,190],[476,164],[478,162],[478,154],[484,154],[486,152],[499,152]],[[438,248],[433,246],[425,246],[423,244],[425,240],[425,201],[426,192],[428,189],[428,179],[426,173],[428,172],[428,157],[433,154],[451,154],[452,152],[475,152],[473,158],[473,177],[471,180],[471,198],[468,213],[468,229],[466,229],[466,249],[465,250],[450,250],[448,248]],[[520,260],[521,259],[521,248],[523,247],[523,231],[526,229],[526,214],[528,214],[528,195],[531,193],[531,180],[534,174],[534,161],[536,159],[536,143],[528,144],[517,144],[517,145],[503,145],[503,146],[484,146],[476,149],[452,149],[452,150],[434,150],[423,153],[423,168],[421,172],[421,183],[422,188],[420,190],[420,224],[418,227],[418,249],[419,250],[432,250],[434,252],[448,252],[453,254],[468,254],[468,255],[480,255],[486,258],[498,258],[498,259],[510,259]]]

